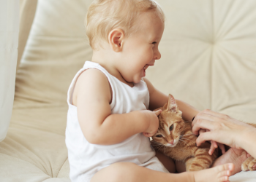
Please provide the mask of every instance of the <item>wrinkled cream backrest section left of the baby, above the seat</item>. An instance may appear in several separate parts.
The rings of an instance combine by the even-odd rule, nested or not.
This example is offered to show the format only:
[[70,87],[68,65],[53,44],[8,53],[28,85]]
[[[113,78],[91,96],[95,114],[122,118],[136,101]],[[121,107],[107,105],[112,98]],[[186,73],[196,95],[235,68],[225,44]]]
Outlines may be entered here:
[[[91,1],[38,1],[16,78],[21,108],[65,105],[75,73],[91,59],[83,25]],[[39,104],[39,106],[41,106]]]

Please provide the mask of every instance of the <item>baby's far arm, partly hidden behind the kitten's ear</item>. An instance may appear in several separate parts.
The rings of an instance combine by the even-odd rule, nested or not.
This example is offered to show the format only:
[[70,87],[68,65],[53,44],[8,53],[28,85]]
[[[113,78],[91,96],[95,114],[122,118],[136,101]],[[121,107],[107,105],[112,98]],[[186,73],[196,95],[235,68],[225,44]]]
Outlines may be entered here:
[[[148,81],[145,77],[143,78],[148,86],[148,91],[150,95],[149,109],[153,111],[156,108],[160,108],[167,103],[168,96],[164,93],[157,90],[151,82]],[[199,113],[199,111],[190,106],[188,103],[185,103],[182,100],[176,99],[178,108],[182,111],[182,117],[185,121],[192,121],[193,117]]]

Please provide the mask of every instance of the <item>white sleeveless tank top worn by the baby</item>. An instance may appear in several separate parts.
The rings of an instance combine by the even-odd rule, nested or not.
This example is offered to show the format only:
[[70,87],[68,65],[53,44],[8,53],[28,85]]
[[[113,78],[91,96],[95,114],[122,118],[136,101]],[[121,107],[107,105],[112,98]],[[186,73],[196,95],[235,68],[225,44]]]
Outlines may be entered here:
[[146,110],[149,105],[148,87],[143,79],[138,84],[134,84],[134,87],[129,87],[109,74],[98,63],[86,61],[72,80],[67,93],[69,110],[67,112],[66,145],[70,166],[69,177],[72,181],[85,181],[86,178],[91,178],[97,171],[114,162],[133,162],[143,166],[143,163],[155,156],[149,138],[142,133],[132,135],[121,143],[108,146],[95,145],[86,141],[78,123],[77,107],[72,105],[72,94],[78,76],[89,68],[97,68],[107,76],[113,93],[110,104],[112,114]]

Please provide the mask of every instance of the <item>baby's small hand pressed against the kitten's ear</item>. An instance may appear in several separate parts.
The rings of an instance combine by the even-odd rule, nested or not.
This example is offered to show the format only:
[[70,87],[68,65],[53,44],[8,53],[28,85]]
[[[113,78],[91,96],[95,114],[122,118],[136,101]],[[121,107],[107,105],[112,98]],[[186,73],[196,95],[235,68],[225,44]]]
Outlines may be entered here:
[[157,111],[148,111],[148,122],[149,122],[149,126],[147,128],[147,130],[145,132],[143,132],[143,135],[146,137],[151,137],[153,136],[157,130],[158,130],[158,126],[159,126],[159,120],[158,120],[158,115],[161,114],[162,110],[159,109]]

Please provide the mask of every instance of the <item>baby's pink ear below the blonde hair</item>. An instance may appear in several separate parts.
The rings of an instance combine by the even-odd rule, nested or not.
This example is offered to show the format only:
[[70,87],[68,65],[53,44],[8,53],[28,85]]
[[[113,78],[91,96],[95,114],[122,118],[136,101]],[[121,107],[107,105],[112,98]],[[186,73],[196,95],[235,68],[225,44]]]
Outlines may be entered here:
[[124,43],[124,31],[121,28],[114,28],[108,34],[108,43],[115,52],[121,52]]

